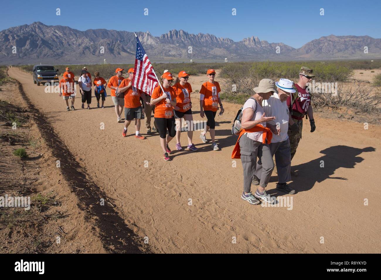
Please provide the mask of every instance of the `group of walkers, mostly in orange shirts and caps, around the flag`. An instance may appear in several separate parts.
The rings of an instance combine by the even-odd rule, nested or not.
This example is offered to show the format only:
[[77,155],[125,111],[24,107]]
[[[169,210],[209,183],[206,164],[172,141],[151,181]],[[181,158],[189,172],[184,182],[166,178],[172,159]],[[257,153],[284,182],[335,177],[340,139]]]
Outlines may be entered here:
[[[168,143],[176,136],[176,150],[183,150],[180,143],[181,135],[181,119],[192,124],[192,86],[188,83],[189,74],[185,71],[180,71],[176,81],[172,74],[165,70],[160,77],[160,86],[155,87],[152,92],[152,96],[140,91],[132,85],[134,78],[134,68],[130,68],[127,71],[127,78],[123,77],[123,68],[117,68],[115,75],[110,78],[108,83],[104,78],[99,76],[99,72],[95,72],[95,79],[91,82],[91,75],[87,72],[86,67],[83,67],[80,78],[78,79],[78,85],[82,94],[82,108],[84,108],[85,102],[87,108],[90,109],[91,104],[91,85],[95,87],[95,96],[98,101],[102,97],[102,108],[104,108],[104,100],[106,98],[106,88],[111,89],[111,99],[114,103],[115,114],[117,116],[117,122],[122,122],[123,107],[125,112],[124,129],[122,136],[127,136],[128,126],[131,121],[135,121],[135,138],[144,140],[146,137],[140,134],[141,119],[144,119],[144,113],[146,115],[146,129],[147,134],[150,135],[154,132],[158,132],[160,135],[160,145],[163,150],[163,157],[165,161],[171,160],[169,154],[172,152]],[[219,97],[221,88],[219,83],[215,81],[216,72],[214,69],[207,71],[208,81],[203,83],[200,89],[200,116],[207,118],[207,124],[204,130],[200,134],[200,138],[203,143],[207,143],[206,133],[209,131],[211,137],[211,148],[214,151],[220,150],[215,142],[215,117],[216,112],[220,108],[220,115],[224,113],[224,108]],[[174,84],[173,84],[174,82]],[[173,85],[172,85],[173,84]],[[63,74],[63,79],[60,81],[60,88],[63,95],[63,99],[66,101],[67,111],[69,108],[69,99],[72,99],[71,109],[74,108],[75,98],[75,84],[74,73],[70,71],[70,68],[66,68],[66,72]],[[143,106],[142,106],[143,104]],[[144,112],[143,112],[144,107]],[[151,130],[151,113],[154,111],[154,126]],[[167,135],[168,133],[168,135]],[[191,151],[197,151],[192,142],[193,127],[187,128],[187,149]]]

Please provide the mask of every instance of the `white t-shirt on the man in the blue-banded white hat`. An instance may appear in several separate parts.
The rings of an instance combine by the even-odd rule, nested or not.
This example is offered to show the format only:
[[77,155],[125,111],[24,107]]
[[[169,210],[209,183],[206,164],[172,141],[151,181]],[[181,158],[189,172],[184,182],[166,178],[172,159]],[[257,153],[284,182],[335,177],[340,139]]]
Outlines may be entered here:
[[269,124],[274,126],[279,122],[280,135],[272,134],[271,143],[277,143],[287,140],[288,138],[288,108],[286,101],[280,101],[277,93],[268,99],[262,101],[263,110],[266,117],[275,117],[273,121],[269,121]]

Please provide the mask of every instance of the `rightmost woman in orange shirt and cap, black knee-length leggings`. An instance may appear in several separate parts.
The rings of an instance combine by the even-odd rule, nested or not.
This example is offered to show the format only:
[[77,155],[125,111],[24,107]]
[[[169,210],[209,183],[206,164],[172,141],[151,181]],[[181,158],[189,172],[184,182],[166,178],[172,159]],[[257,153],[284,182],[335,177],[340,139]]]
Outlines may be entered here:
[[202,142],[207,143],[207,138],[205,134],[210,133],[210,138],[212,140],[212,149],[218,151],[219,147],[215,142],[215,127],[216,127],[216,113],[218,110],[218,105],[221,107],[220,115],[224,113],[224,107],[222,106],[221,99],[219,98],[219,93],[221,88],[219,83],[215,81],[216,71],[214,69],[209,69],[207,71],[208,81],[203,83],[200,89],[200,116],[201,118],[207,116],[207,126],[201,132],[200,138]]

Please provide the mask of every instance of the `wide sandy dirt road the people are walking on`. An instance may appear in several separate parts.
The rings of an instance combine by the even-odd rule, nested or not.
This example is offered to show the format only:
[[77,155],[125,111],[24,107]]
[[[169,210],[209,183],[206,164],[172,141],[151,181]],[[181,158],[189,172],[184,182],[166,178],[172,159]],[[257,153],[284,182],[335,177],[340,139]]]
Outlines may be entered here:
[[[225,102],[226,113],[216,118],[216,142],[221,151],[201,143],[195,132],[194,143],[200,150],[176,151],[173,161],[165,162],[157,134],[137,140],[130,126],[130,136],[121,136],[123,124],[115,120],[110,97],[106,98],[107,108],[92,110],[78,110],[77,98],[77,110],[67,112],[62,97],[45,93],[43,86],[33,84],[29,73],[17,68],[8,73],[22,83],[29,99],[48,117],[91,180],[114,199],[128,227],[142,242],[147,236],[156,252],[381,251],[379,126],[365,130],[360,123],[316,116],[317,130],[311,134],[306,122],[293,159],[300,174],[290,183],[298,191],[292,196],[293,208],[264,208],[240,199],[242,165],[237,161],[237,167],[232,167],[236,137],[230,129],[239,105]],[[189,82],[194,89],[200,88],[192,78]],[[198,102],[193,103],[194,118],[200,119]],[[94,97],[92,105],[96,105]],[[141,132],[144,134],[145,128]],[[181,142],[186,143],[185,133]],[[174,141],[170,147],[174,150]],[[145,161],[148,167],[144,167]],[[274,196],[278,195],[275,175],[267,188]],[[188,205],[189,199],[192,205]],[[364,205],[364,199],[369,205]],[[233,237],[237,243],[232,243]],[[321,237],[324,243],[320,243]]]

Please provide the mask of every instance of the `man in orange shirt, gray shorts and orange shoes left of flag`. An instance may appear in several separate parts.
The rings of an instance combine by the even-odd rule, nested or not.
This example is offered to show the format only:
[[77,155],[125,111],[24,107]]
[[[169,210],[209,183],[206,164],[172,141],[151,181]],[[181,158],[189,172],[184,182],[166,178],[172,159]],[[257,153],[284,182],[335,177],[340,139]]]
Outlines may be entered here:
[[125,92],[124,94],[124,129],[122,136],[126,137],[127,128],[130,125],[131,121],[135,119],[135,138],[137,139],[146,139],[146,137],[140,134],[140,120],[144,119],[143,109],[140,103],[141,97],[145,104],[149,104],[146,99],[146,94],[141,92],[136,87],[132,86],[132,80],[134,77],[134,68],[128,69],[128,78],[124,79],[119,86],[119,92]]

